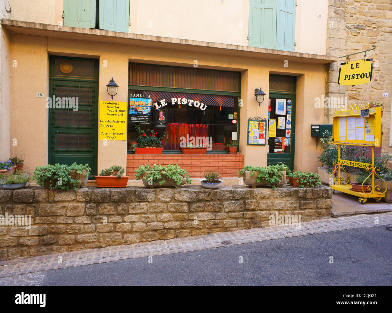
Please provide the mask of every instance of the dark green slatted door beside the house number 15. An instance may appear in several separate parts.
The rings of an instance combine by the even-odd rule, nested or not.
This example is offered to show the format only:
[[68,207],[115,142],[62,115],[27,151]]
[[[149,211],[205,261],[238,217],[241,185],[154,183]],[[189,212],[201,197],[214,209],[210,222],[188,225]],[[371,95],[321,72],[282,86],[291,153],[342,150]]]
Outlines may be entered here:
[[[49,108],[49,164],[89,164],[97,174],[98,83],[49,80],[49,96],[58,99]],[[71,99],[71,100],[70,100]],[[66,108],[73,102],[74,107]]]

